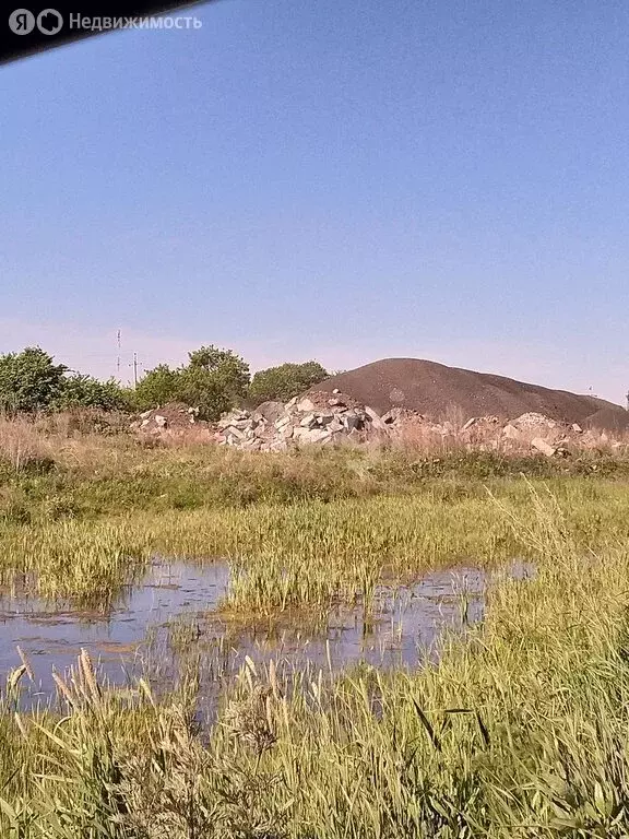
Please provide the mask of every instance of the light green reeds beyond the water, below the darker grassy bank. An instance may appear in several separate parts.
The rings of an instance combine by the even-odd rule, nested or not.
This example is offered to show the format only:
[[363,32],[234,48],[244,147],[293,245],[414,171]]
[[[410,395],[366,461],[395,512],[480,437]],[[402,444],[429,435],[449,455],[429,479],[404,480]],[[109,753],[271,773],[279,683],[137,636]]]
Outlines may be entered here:
[[[629,493],[620,482],[535,482],[557,498],[575,544],[629,536]],[[490,496],[488,487],[490,487]],[[328,608],[368,599],[382,578],[416,577],[453,563],[494,566],[535,551],[511,516],[532,515],[522,480],[443,480],[416,493],[289,504],[202,507],[0,525],[0,579],[47,596],[106,605],[151,555],[212,562],[233,570],[229,608],[270,613]],[[502,509],[501,509],[502,507]]]

